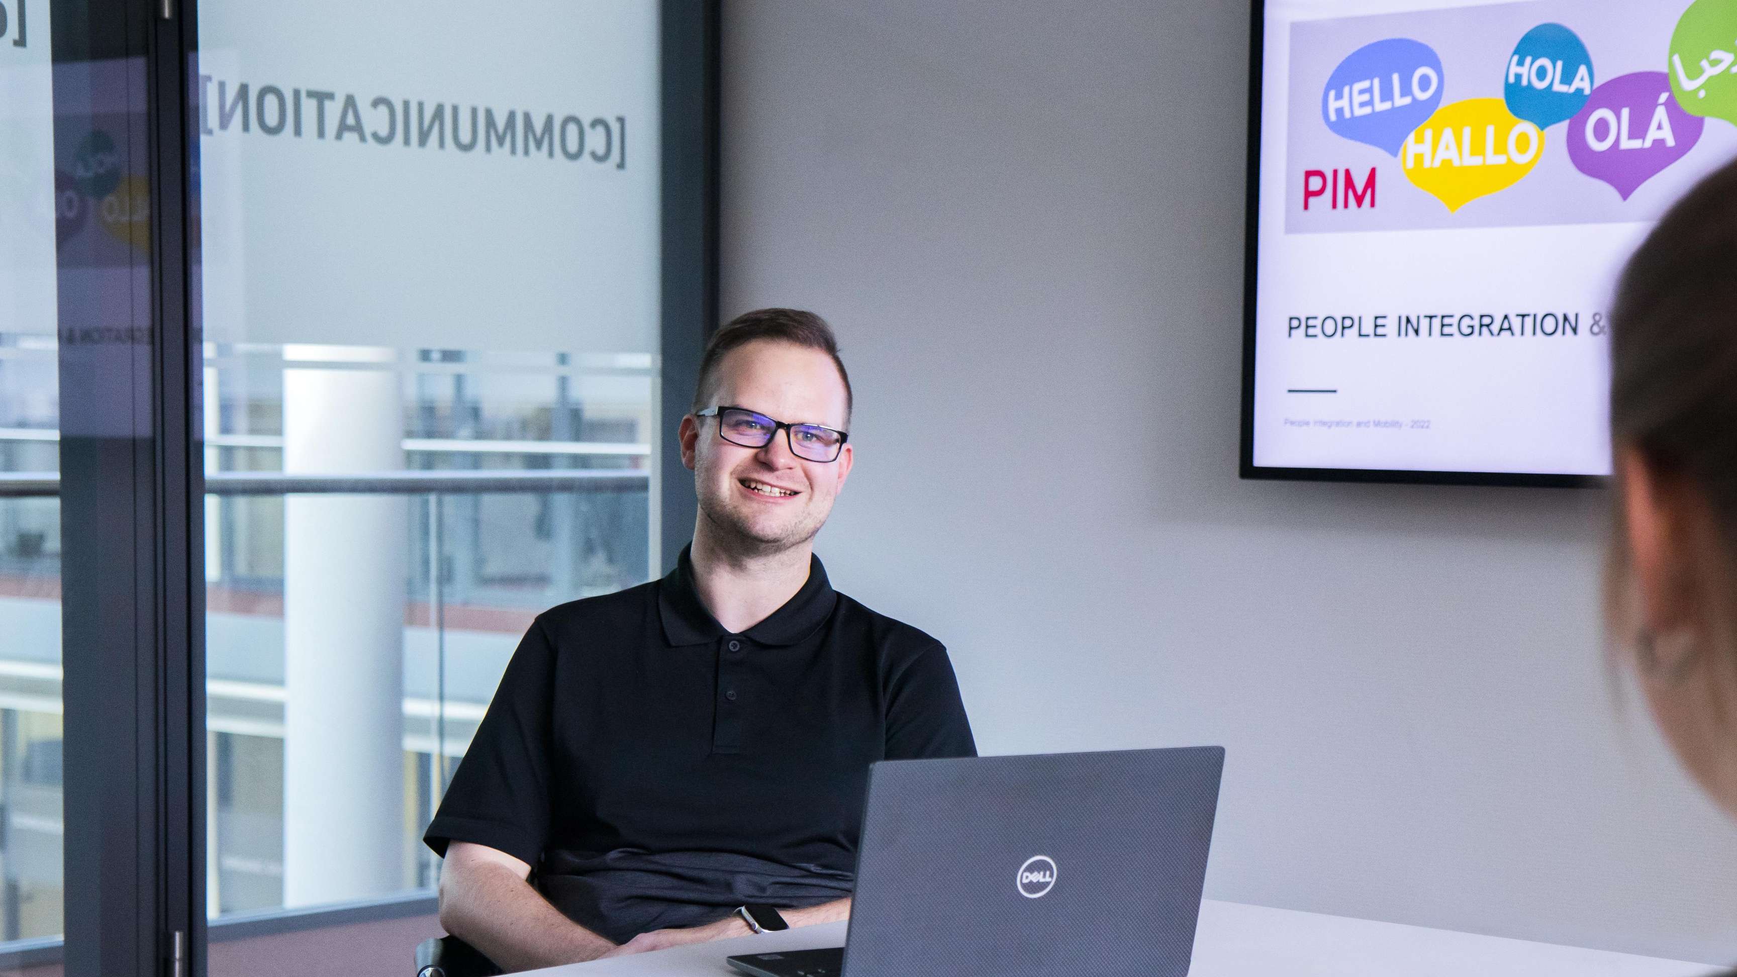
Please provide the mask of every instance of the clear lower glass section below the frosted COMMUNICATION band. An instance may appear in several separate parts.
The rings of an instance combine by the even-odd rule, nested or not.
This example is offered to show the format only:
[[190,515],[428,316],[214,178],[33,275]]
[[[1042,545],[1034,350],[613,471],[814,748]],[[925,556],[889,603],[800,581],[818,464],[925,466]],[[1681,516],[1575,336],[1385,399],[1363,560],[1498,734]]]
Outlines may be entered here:
[[[384,360],[377,349],[325,355]],[[287,768],[294,756],[287,737],[297,732],[287,551],[297,542],[288,535],[301,528],[292,522],[299,502],[373,504],[365,515],[384,513],[391,522],[377,528],[400,535],[403,549],[393,567],[398,579],[361,581],[379,584],[370,601],[401,617],[400,810],[384,850],[393,857],[372,852],[393,864],[372,876],[372,890],[314,894],[301,904],[431,888],[438,859],[420,834],[519,635],[547,607],[611,593],[651,572],[655,358],[394,353],[380,372],[403,396],[405,468],[335,475],[283,468],[285,370],[306,369],[306,360],[285,360],[281,348],[212,346],[205,363],[210,911],[297,906],[295,866],[287,864],[290,793],[334,800],[325,772],[332,744],[307,758],[320,770]],[[330,506],[314,513],[346,518]],[[307,532],[320,530],[316,522]],[[354,535],[334,542],[351,549],[340,549],[340,562],[368,560]],[[311,678],[354,681],[346,668],[337,662]]]

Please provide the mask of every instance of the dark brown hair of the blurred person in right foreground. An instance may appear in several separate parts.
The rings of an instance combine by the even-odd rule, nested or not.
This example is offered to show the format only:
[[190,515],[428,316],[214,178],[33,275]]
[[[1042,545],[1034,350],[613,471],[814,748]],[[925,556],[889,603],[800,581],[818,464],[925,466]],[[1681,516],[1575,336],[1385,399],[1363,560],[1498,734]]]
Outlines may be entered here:
[[1636,607],[1622,480],[1605,574],[1617,648],[1650,678],[1695,666],[1720,720],[1737,716],[1737,162],[1678,200],[1629,259],[1610,313],[1610,436],[1633,449],[1681,502],[1671,567],[1690,622],[1661,655]]

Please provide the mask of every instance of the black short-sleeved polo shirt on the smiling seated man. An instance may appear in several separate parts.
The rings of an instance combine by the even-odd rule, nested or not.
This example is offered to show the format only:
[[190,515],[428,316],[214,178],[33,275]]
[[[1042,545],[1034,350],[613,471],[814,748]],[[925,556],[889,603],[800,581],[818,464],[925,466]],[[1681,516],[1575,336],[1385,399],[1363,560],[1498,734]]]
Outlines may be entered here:
[[525,633],[424,841],[474,841],[615,942],[743,902],[851,894],[875,760],[974,756],[940,641],[837,593],[813,560],[731,635],[662,581]]

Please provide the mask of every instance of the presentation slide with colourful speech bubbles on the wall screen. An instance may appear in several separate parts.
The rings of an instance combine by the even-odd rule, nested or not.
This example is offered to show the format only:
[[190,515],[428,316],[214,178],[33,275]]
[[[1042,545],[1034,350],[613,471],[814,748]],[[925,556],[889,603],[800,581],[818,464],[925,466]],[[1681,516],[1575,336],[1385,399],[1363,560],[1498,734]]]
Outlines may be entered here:
[[1615,278],[1737,155],[1737,2],[1268,0],[1259,104],[1252,466],[1608,475]]

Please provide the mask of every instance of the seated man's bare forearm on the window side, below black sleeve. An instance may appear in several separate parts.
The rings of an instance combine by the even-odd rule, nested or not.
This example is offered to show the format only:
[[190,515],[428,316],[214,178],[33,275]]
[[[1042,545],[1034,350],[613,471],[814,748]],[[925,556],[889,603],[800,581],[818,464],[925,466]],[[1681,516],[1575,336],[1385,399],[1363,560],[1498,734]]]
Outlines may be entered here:
[[460,878],[445,874],[439,921],[507,972],[596,960],[615,949],[500,866],[467,866]]

